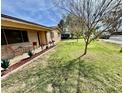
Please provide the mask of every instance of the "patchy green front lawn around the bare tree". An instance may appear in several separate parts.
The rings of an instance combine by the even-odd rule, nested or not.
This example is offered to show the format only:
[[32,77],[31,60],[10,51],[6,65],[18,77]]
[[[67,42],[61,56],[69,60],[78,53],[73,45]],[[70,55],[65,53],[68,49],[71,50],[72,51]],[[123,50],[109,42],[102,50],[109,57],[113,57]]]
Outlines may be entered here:
[[94,41],[79,61],[81,41],[61,41],[55,50],[2,80],[2,93],[121,93],[120,46]]

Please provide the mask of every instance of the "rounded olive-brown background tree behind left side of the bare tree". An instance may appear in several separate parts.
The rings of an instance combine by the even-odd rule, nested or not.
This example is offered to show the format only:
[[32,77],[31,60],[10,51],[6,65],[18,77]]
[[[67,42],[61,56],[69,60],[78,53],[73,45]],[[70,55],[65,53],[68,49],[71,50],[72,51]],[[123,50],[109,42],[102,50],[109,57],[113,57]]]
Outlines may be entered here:
[[82,34],[82,27],[83,24],[79,22],[80,18],[72,14],[68,14],[63,16],[60,20],[58,26],[61,29],[61,32],[64,32],[64,29],[67,29],[68,32],[71,34],[71,38],[76,38],[77,41]]

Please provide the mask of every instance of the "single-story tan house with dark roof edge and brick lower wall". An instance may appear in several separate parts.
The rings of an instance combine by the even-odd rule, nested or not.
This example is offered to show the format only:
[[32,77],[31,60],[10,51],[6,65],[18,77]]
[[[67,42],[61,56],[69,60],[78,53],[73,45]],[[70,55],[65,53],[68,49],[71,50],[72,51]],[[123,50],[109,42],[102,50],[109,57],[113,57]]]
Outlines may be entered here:
[[34,45],[36,47],[45,46],[51,41],[56,43],[60,40],[60,32],[55,27],[46,27],[8,15],[1,15],[2,58],[12,58],[13,50],[18,48],[28,50]]

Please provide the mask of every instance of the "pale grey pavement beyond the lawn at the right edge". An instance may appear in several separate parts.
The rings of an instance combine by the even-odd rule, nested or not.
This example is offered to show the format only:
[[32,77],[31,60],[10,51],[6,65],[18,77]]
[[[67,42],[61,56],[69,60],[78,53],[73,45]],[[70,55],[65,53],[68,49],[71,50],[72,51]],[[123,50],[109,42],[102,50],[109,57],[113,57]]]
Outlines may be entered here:
[[122,35],[111,36],[109,39],[102,39],[105,42],[116,43],[122,45]]

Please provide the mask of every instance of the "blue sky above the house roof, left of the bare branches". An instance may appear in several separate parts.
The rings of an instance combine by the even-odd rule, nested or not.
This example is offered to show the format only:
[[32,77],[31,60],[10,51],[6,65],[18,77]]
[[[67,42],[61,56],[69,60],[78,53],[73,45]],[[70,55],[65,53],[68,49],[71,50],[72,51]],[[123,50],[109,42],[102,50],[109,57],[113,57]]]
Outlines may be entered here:
[[56,26],[64,11],[55,7],[54,0],[2,0],[1,12],[45,26]]

